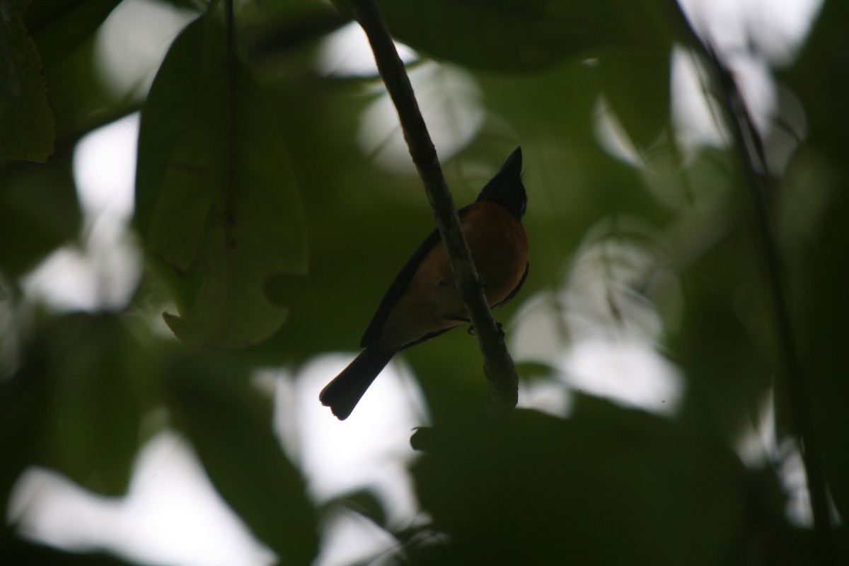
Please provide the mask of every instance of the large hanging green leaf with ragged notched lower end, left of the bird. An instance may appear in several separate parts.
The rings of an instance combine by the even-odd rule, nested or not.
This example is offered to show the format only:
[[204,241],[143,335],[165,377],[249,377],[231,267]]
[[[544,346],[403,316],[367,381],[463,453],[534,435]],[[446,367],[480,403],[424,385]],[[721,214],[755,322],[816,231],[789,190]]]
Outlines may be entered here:
[[266,339],[287,309],[267,277],[306,269],[300,204],[285,149],[250,72],[228,67],[220,26],[177,37],[151,87],[138,147],[136,222],[170,284],[192,346]]

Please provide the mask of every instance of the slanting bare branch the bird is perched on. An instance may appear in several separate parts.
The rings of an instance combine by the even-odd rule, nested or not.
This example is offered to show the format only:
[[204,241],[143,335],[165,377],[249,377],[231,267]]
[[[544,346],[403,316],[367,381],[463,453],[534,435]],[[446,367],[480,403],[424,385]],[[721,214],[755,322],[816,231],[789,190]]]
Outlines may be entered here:
[[486,304],[480,277],[460,227],[451,192],[442,175],[436,148],[430,140],[419,104],[416,103],[413,86],[374,0],[349,0],[349,3],[368,36],[380,77],[398,111],[410,156],[424,183],[424,192],[427,193],[430,207],[436,216],[436,226],[451,261],[454,280],[458,283],[460,296],[475,326],[484,357],[484,374],[489,385],[486,406],[492,412],[507,412],[518,401],[519,379],[502,334],[496,328],[495,319]]

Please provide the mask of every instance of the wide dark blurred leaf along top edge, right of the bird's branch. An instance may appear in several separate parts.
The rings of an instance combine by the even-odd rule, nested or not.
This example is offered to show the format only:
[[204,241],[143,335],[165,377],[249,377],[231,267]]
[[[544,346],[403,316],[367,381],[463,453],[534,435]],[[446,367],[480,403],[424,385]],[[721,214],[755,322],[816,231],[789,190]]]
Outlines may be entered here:
[[[335,0],[343,11],[347,3]],[[380,2],[393,37],[436,59],[497,71],[539,69],[628,42],[617,0]]]

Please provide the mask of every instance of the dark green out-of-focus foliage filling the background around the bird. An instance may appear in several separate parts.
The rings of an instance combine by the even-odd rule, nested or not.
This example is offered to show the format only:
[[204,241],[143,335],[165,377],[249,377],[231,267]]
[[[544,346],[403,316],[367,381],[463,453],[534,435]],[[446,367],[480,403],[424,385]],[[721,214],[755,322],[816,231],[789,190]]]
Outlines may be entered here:
[[[350,18],[344,3],[340,12],[319,0],[236,3],[229,50],[227,2],[205,13],[203,3],[163,0],[192,12],[192,23],[149,92],[114,92],[99,74],[97,31],[129,2],[0,4],[0,509],[33,465],[121,495],[138,447],[166,423],[192,443],[216,490],[282,563],[310,563],[334,506],[310,499],[297,462],[273,435],[271,401],[250,376],[261,367],[295,373],[313,356],[353,349],[432,216],[419,181],[380,169],[357,141],[365,109],[380,96],[375,77],[318,71],[323,40]],[[800,400],[775,379],[784,367],[773,282],[739,149],[685,151],[670,120],[672,53],[683,37],[674,4],[380,5],[399,39],[480,88],[480,131],[442,156],[458,205],[475,198],[499,157],[522,146],[531,275],[497,316],[511,338],[514,315],[545,296],[557,322],[545,336],[553,356],[520,364],[526,382],[562,373],[551,368],[554,354],[586,338],[586,324],[578,328],[575,313],[556,308],[582,254],[621,243],[651,249],[651,261],[622,281],[616,273],[637,272],[627,265],[633,257],[599,255],[604,300],[593,306],[613,321],[602,330],[654,328],[651,345],[685,382],[672,418],[575,395],[568,418],[522,410],[492,423],[482,413],[485,380],[472,339],[457,331],[409,350],[433,424],[413,436],[424,454],[412,466],[430,524],[392,524],[369,490],[346,498],[398,541],[382,558],[821,563],[812,531],[784,513],[779,462],[747,467],[734,451],[768,404],[779,440],[789,439]],[[801,109],[807,132],[787,134],[788,107],[779,104],[766,139],[767,147],[790,147],[773,171],[775,235],[807,409],[844,519],[846,25],[846,3],[826,0],[798,59],[778,76],[789,97],[782,100],[798,102],[787,104]],[[716,93],[711,85],[706,92]],[[34,304],[25,276],[84,235],[71,174],[76,142],[138,109],[133,227],[148,261],[133,300],[109,313]],[[603,149],[607,126],[622,131],[630,160]],[[49,154],[45,165],[20,161]],[[633,318],[633,305],[650,315]],[[175,306],[179,317],[166,320],[179,340],[160,328]],[[630,368],[621,371],[626,383]],[[845,527],[833,535],[835,563],[849,560]],[[121,563],[37,546],[11,529],[0,538],[6,558]]]

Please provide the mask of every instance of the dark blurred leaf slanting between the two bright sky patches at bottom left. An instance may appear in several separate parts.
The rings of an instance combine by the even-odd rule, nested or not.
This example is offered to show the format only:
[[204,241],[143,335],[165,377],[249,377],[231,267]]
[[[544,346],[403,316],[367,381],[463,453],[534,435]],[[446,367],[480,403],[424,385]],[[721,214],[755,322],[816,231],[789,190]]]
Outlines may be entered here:
[[218,492],[282,563],[311,563],[315,509],[273,433],[271,401],[212,353],[175,360],[168,383],[171,413]]

